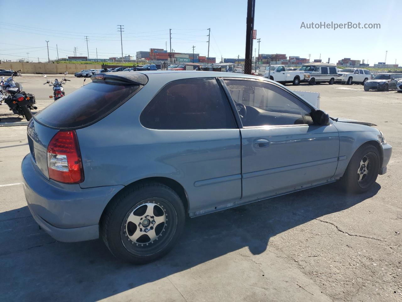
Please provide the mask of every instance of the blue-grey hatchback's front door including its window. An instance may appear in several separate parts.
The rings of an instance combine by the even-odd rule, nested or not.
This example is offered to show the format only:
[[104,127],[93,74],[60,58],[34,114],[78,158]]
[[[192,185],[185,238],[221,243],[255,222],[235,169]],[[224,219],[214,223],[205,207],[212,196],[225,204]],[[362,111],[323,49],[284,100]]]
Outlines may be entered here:
[[242,198],[260,200],[332,181],[335,126],[317,125],[310,106],[272,83],[225,79],[242,137]]

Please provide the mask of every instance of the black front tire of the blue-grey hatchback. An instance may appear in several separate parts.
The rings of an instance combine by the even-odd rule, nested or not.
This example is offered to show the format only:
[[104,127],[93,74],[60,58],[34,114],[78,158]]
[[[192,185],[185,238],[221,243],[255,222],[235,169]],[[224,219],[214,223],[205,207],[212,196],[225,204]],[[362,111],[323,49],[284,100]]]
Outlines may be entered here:
[[[365,168],[361,165],[362,162],[367,163]],[[373,145],[366,144],[357,149],[341,179],[344,189],[348,193],[364,193],[370,190],[375,180],[377,180],[379,162],[379,152]],[[366,171],[365,177],[363,174],[359,175]],[[358,179],[360,176],[362,176],[361,180]]]

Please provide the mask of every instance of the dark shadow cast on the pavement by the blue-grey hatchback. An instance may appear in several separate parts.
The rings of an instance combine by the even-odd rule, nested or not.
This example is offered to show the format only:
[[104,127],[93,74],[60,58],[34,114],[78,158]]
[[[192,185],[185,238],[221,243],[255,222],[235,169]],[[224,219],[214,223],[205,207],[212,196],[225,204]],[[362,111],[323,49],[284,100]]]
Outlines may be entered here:
[[[361,195],[329,184],[193,219],[164,258],[133,266],[115,259],[101,240],[55,242],[39,230],[27,207],[0,213],[0,297],[4,301],[96,301],[191,269],[248,247],[269,248],[269,239],[323,215],[374,196],[379,184]],[[258,227],[256,227],[258,226]]]

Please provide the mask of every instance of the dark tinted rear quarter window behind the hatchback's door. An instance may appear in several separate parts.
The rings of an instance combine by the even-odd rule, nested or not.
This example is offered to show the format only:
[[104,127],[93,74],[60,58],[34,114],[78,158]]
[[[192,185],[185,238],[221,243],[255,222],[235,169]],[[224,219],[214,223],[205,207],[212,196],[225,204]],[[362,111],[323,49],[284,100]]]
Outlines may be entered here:
[[166,84],[144,108],[139,120],[151,129],[237,128],[229,101],[214,78]]

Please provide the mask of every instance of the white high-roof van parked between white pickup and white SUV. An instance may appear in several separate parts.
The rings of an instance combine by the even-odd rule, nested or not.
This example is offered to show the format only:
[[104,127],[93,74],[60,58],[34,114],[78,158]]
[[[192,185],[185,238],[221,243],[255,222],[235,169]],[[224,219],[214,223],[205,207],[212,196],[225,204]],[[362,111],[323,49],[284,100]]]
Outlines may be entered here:
[[301,66],[300,70],[304,72],[304,81],[310,85],[323,82],[332,85],[338,77],[335,64],[311,62]]

